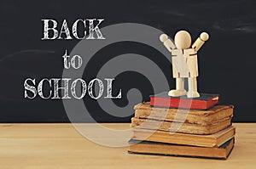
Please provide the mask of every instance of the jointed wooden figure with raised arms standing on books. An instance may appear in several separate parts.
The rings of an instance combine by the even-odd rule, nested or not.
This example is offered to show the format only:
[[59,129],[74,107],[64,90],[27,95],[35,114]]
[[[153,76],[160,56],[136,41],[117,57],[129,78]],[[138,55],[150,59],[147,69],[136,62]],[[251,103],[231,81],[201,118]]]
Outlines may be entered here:
[[[196,77],[198,76],[197,51],[209,39],[206,32],[202,32],[191,47],[191,37],[188,31],[178,31],[174,37],[175,44],[166,34],[160,35],[160,41],[172,53],[172,75],[176,78],[176,89],[168,95],[179,97],[187,95],[188,98],[198,98]],[[191,47],[191,48],[190,48]],[[189,91],[184,88],[184,78],[188,78]]]

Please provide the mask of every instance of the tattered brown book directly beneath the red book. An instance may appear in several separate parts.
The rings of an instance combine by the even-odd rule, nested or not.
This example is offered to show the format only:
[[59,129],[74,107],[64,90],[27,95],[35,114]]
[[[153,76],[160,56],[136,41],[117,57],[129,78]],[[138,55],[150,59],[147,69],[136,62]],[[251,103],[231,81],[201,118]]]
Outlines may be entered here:
[[233,116],[233,105],[215,105],[209,110],[182,110],[151,107],[148,102],[134,107],[135,117],[159,121],[177,121],[199,125],[211,125]]

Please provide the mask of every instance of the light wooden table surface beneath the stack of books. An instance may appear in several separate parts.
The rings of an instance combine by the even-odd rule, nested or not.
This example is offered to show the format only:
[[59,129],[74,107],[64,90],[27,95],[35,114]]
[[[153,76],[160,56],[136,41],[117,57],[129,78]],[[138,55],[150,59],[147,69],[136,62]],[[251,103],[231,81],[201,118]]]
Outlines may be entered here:
[[[90,124],[88,124],[90,125]],[[114,129],[128,123],[104,124]],[[256,168],[256,123],[235,123],[236,145],[226,161],[130,155],[84,138],[72,124],[0,124],[0,168]]]

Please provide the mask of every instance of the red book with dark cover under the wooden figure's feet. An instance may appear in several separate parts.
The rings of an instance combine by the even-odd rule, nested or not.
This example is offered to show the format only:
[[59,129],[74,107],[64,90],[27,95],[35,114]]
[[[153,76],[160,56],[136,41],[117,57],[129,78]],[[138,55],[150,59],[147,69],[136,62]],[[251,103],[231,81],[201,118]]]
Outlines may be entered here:
[[218,94],[201,93],[199,98],[187,98],[187,96],[172,97],[167,92],[150,96],[150,105],[166,108],[181,108],[207,110],[218,104]]

